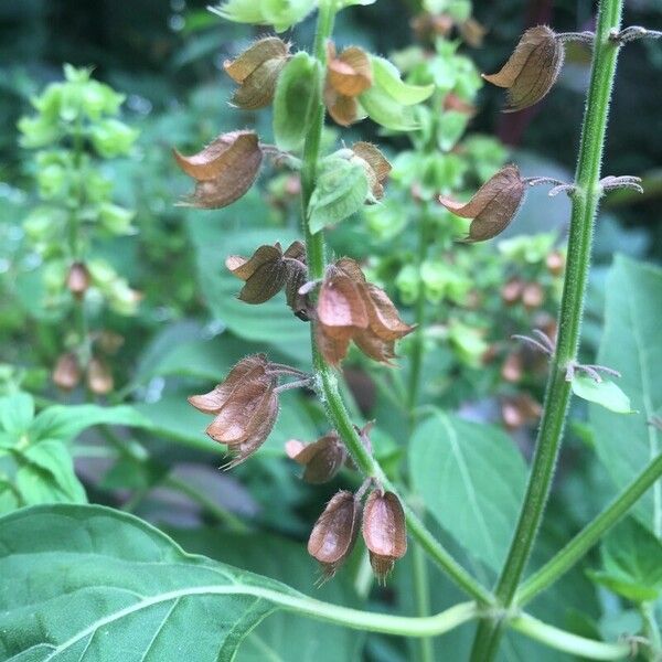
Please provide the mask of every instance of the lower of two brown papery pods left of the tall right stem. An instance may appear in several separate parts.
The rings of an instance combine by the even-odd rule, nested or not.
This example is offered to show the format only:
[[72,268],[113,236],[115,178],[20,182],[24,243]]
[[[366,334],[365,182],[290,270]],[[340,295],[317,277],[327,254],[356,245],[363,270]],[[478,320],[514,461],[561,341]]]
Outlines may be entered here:
[[450,197],[439,202],[457,216],[473,218],[467,242],[484,242],[501,234],[511,223],[526,191],[516,166],[504,166],[466,204]]

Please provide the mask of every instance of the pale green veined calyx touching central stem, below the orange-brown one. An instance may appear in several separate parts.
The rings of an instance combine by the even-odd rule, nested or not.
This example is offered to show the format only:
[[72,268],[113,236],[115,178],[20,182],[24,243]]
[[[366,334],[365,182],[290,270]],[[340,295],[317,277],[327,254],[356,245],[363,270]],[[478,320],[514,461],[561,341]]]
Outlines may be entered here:
[[334,156],[324,159],[308,207],[310,232],[314,234],[355,214],[367,193],[367,175],[360,163]]

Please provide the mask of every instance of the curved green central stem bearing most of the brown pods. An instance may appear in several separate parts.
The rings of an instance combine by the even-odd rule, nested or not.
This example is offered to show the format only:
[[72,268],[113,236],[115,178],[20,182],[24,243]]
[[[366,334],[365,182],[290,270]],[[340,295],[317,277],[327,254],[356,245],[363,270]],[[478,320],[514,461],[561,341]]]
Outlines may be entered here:
[[[314,54],[319,61],[320,67],[325,66],[327,49],[325,42],[331,36],[334,19],[334,3],[331,0],[320,2],[318,28],[314,38]],[[306,142],[303,145],[303,161],[301,166],[301,203],[302,203],[302,223],[306,235],[306,252],[308,261],[309,280],[320,280],[323,278],[327,261],[324,257],[324,237],[323,232],[312,234],[308,225],[308,205],[310,196],[314,190],[317,175],[317,163],[320,156],[320,143],[322,129],[324,126],[324,104],[321,89],[317,108],[311,120]],[[314,340],[314,329],[311,328],[311,351],[312,366],[316,376],[316,389],[324,405],[327,418],[333,428],[338,431],[345,447],[354,460],[359,471],[365,477],[375,478],[384,489],[395,491],[394,485],[384,474],[380,465],[372,455],[364,448],[352,419],[348,414],[342,396],[340,394],[338,375],[324,362]],[[401,500],[402,501],[402,500]],[[423,522],[416,516],[407,504],[403,503],[405,517],[409,534],[428,553],[430,558],[437,563],[448,576],[467,594],[482,604],[493,601],[490,592],[481,586],[452,556],[446,548],[435,540],[433,534],[425,527]]]

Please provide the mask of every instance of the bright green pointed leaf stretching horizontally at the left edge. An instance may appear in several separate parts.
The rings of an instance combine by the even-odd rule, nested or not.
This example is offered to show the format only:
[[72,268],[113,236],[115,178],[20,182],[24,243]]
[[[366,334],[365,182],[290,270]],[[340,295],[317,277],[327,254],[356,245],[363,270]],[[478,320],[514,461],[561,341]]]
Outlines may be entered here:
[[128,405],[100,407],[98,405],[55,405],[41,412],[30,426],[31,440],[73,439],[85,428],[95,425],[126,425],[150,427],[150,421]]

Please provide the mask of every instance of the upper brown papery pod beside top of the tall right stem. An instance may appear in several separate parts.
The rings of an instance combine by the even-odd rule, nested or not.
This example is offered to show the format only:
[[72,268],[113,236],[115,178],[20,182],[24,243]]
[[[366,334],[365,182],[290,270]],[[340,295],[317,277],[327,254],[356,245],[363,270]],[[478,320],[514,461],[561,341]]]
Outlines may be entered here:
[[558,78],[565,50],[557,34],[546,25],[530,28],[513,54],[495,74],[483,78],[508,89],[504,113],[514,113],[537,104]]

